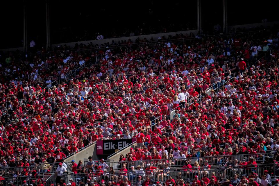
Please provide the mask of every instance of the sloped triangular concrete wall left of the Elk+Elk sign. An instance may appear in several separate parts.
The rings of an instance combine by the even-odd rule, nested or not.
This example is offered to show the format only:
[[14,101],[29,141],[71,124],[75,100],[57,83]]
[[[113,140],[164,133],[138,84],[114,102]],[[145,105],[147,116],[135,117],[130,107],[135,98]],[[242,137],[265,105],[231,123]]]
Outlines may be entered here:
[[64,162],[71,162],[71,160],[75,160],[75,162],[78,162],[79,160],[84,161],[88,156],[92,156],[93,160],[97,160],[96,143],[65,159]]

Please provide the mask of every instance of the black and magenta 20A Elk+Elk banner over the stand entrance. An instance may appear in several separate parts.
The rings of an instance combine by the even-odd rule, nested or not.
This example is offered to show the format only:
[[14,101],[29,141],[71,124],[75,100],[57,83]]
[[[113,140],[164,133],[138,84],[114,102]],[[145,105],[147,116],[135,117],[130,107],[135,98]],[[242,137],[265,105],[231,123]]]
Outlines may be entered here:
[[135,139],[97,141],[97,155],[113,154],[120,149],[130,145],[133,141],[135,141]]

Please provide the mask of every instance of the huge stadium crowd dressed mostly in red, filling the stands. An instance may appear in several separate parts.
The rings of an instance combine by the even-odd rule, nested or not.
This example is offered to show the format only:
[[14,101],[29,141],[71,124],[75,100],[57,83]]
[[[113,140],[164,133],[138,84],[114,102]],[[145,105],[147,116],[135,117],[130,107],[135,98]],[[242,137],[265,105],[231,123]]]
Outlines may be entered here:
[[[181,40],[183,37],[179,35],[174,42],[160,38],[136,49],[129,41],[126,47],[107,47],[92,54],[58,48],[53,53],[41,51],[47,58],[1,58],[3,180],[13,176],[9,184],[17,185],[17,177],[26,176],[33,181],[29,185],[42,186],[44,180],[38,175],[50,172],[52,165],[59,163],[54,170],[57,184],[66,171],[66,156],[96,140],[128,138],[135,138],[136,151],[131,149],[120,157],[124,163],[119,164],[115,176],[97,179],[106,174],[104,171],[113,171],[104,162],[97,166],[92,160],[87,165],[72,162],[74,173],[92,172],[92,176],[79,183],[71,180],[70,184],[129,186],[126,165],[137,160],[222,156],[219,163],[228,169],[234,165],[255,169],[258,164],[277,164],[278,34]],[[257,56],[265,57],[254,63]],[[92,65],[85,66],[88,64]],[[71,76],[67,76],[69,72]],[[173,109],[175,115],[170,119]],[[268,152],[274,156],[265,156]],[[262,155],[248,160],[226,158],[241,154]],[[133,177],[137,179],[135,185],[189,185],[182,179],[184,174],[178,180],[169,176],[168,167],[175,161],[160,162],[155,167],[129,165],[129,169],[157,171],[152,180],[148,174]],[[183,161],[180,167],[189,172],[197,166],[196,173],[191,172],[193,185],[266,186],[271,181],[269,171],[257,176],[252,171],[247,172],[249,175],[237,172],[237,177],[226,180],[222,173],[208,175],[210,162],[202,163],[198,167]],[[39,172],[32,170],[40,164],[44,168]],[[9,167],[24,169],[15,172]],[[163,177],[168,177],[166,182]],[[61,185],[66,185],[63,178]]]

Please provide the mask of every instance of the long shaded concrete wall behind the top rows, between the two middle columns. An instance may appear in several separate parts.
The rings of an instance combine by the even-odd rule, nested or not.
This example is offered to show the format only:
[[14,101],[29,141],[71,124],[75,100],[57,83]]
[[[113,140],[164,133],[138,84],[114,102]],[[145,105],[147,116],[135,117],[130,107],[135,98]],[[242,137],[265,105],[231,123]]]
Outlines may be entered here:
[[71,43],[58,43],[58,44],[52,44],[52,47],[54,46],[58,46],[58,45],[64,45],[64,44],[67,44],[68,46],[70,47],[74,47],[76,43],[78,44],[87,44],[87,43],[90,43],[92,42],[93,45],[95,44],[98,44],[98,45],[101,45],[101,44],[104,44],[104,43],[107,43],[109,42],[110,44],[112,43],[112,40],[114,40],[115,43],[117,43],[118,41],[121,41],[121,40],[126,40],[128,41],[128,39],[131,39],[131,41],[133,43],[135,43],[135,40],[139,37],[140,39],[144,39],[144,37],[146,37],[147,40],[150,40],[151,37],[153,37],[153,39],[155,41],[158,40],[158,37],[162,37],[162,35],[165,36],[165,38],[168,38],[168,35],[171,35],[171,36],[174,36],[176,34],[180,34],[182,33],[183,35],[185,35],[186,33],[188,35],[190,35],[190,33],[193,32],[194,35],[196,35],[198,33],[197,30],[189,30],[189,31],[180,31],[180,32],[169,32],[169,33],[158,33],[158,34],[150,34],[150,35],[137,35],[137,36],[133,36],[133,37],[117,37],[117,38],[110,38],[110,39],[103,39],[103,40],[91,40],[91,41],[80,41],[80,42],[71,42]]

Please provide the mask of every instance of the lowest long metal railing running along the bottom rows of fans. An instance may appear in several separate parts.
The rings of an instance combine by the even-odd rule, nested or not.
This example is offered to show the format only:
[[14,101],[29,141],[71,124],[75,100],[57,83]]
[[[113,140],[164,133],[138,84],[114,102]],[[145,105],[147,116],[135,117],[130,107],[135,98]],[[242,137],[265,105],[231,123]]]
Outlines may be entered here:
[[[152,170],[153,169],[153,170]],[[158,169],[152,168],[151,170],[146,169],[137,169],[134,170],[119,170],[115,172],[104,172],[104,173],[86,173],[86,174],[65,174],[62,176],[64,181],[69,182],[70,178],[74,180],[75,183],[78,184],[79,181],[83,183],[87,183],[87,179],[89,179],[89,183],[93,182],[94,179],[97,180],[97,183],[100,183],[101,180],[105,181],[127,181],[125,178],[128,178],[128,181],[131,182],[132,185],[136,183],[138,180],[138,176],[142,176],[143,180],[152,179],[153,182],[167,182],[169,176],[172,176],[174,180],[183,179],[193,181],[195,176],[198,176],[199,179],[203,177],[203,175],[207,175],[208,178],[211,178],[212,173],[215,173],[215,176],[219,180],[233,179],[235,174],[239,175],[250,175],[252,171],[255,171],[260,176],[264,174],[264,171],[267,170],[269,173],[274,173],[272,178],[278,176],[278,171],[275,170],[275,164],[262,164],[260,167],[242,167],[242,166],[216,166],[216,167],[199,167],[199,168],[170,168],[170,169]]]

